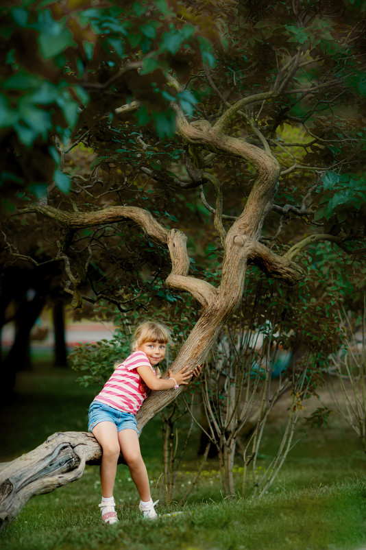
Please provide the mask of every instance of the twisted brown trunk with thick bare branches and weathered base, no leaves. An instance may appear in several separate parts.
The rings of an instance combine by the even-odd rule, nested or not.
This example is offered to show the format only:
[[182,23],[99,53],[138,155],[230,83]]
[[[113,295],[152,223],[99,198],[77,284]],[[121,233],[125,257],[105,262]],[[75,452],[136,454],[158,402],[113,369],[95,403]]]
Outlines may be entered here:
[[[200,318],[171,366],[173,372],[184,366],[195,368],[206,359],[225,321],[241,303],[248,263],[255,263],[272,277],[282,278],[289,283],[295,283],[301,275],[297,265],[291,261],[292,256],[278,256],[259,242],[263,222],[272,206],[280,174],[276,159],[270,152],[224,132],[230,117],[239,109],[263,99],[263,95],[257,94],[246,98],[245,103],[244,100],[239,101],[212,127],[207,121],[201,125],[197,124],[199,121],[188,123],[178,105],[173,104],[177,114],[177,130],[186,143],[217,154],[239,157],[243,162],[251,163],[257,171],[257,179],[243,213],[227,233],[221,220],[221,185],[213,176],[206,174],[208,179],[212,179],[217,193],[215,228],[224,249],[219,287],[189,276],[190,259],[186,250],[186,235],[177,229],[167,230],[143,208],[109,206],[99,211],[66,212],[47,204],[35,204],[19,211],[19,214],[45,215],[55,219],[58,224],[70,231],[132,219],[141,226],[149,239],[169,248],[172,269],[166,280],[167,287],[175,291],[188,292],[201,305]],[[73,284],[73,304],[78,307],[82,302],[80,287],[85,274],[82,271],[76,275],[72,274],[71,259],[66,255],[67,250],[63,249],[62,252],[64,256],[59,256],[59,259],[64,259],[66,273]],[[77,263],[73,268],[78,270]],[[151,392],[138,411],[138,428],[141,429],[182,390],[183,387],[178,390]],[[99,445],[91,434],[56,433],[31,453],[5,466],[0,472],[0,519],[3,527],[12,521],[34,494],[49,492],[78,479],[85,464],[98,461],[100,456]],[[226,462],[230,462],[230,452]],[[230,468],[230,464],[228,467]]]

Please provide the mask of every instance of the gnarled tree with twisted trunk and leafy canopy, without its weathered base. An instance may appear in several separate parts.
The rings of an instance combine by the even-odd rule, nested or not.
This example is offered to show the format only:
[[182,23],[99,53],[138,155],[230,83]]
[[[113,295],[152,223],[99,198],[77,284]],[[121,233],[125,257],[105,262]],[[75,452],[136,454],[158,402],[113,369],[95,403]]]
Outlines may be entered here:
[[[188,293],[174,372],[205,359],[248,265],[293,285],[308,246],[362,257],[361,2],[23,4],[5,10],[3,191],[12,219],[50,223],[75,308],[160,295],[178,314]],[[139,426],[172,398],[150,396]]]

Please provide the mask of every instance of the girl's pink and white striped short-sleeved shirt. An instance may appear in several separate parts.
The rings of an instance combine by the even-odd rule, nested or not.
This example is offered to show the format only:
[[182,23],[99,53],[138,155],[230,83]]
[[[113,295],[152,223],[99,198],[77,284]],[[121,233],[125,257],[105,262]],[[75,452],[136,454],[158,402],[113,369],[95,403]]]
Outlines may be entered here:
[[156,375],[147,355],[143,351],[134,351],[117,366],[101,392],[95,397],[95,401],[110,405],[119,411],[136,414],[149,392],[149,388],[136,370],[143,366],[149,366]]

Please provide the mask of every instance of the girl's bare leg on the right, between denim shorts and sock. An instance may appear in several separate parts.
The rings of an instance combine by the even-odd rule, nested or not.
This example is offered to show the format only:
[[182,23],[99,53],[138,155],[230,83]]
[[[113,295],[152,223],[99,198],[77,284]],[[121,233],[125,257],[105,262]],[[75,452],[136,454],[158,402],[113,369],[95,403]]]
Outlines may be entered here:
[[118,433],[121,453],[130,468],[130,473],[138,494],[142,501],[147,502],[151,499],[149,478],[143,457],[141,456],[140,443],[138,435],[134,429],[125,429]]

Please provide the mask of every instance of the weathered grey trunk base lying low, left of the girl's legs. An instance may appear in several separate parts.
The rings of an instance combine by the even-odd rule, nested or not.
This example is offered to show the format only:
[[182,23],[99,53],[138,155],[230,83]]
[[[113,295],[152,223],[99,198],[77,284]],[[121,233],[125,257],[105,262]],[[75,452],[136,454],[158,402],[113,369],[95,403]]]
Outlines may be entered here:
[[[53,433],[33,451],[0,464],[0,530],[4,531],[36,494],[76,481],[86,464],[99,464],[101,446],[91,433]],[[123,457],[120,461],[123,463]]]

